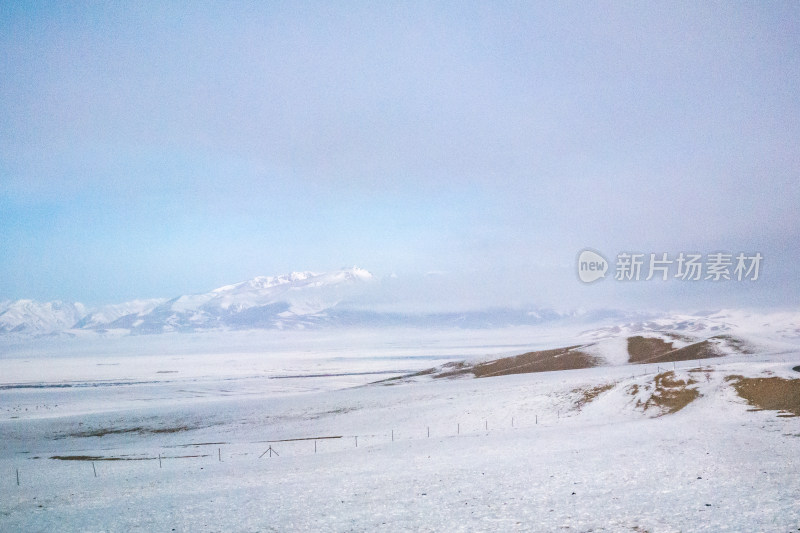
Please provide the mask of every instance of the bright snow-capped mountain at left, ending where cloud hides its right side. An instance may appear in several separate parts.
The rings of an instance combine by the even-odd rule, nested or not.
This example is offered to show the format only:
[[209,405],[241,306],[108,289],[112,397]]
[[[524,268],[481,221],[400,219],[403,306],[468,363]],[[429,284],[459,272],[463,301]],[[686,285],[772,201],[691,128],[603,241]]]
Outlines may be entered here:
[[204,329],[297,328],[329,321],[326,312],[375,280],[353,267],[333,272],[262,276],[207,293],[133,300],[97,309],[80,303],[0,302],[0,333],[66,330],[162,333]]

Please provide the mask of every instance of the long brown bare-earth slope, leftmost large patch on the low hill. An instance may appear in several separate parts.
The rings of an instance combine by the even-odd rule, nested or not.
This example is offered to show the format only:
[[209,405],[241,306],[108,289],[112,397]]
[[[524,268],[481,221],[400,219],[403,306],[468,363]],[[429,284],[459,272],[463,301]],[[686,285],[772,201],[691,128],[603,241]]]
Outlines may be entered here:
[[550,372],[553,370],[575,370],[597,366],[600,361],[578,350],[580,346],[569,346],[555,350],[541,350],[528,352],[513,357],[503,357],[495,361],[468,365],[465,363],[449,363],[442,367],[443,372],[436,374],[436,378],[454,377],[463,374],[472,374],[476,378],[491,376],[507,376],[510,374],[528,374],[531,372]]

